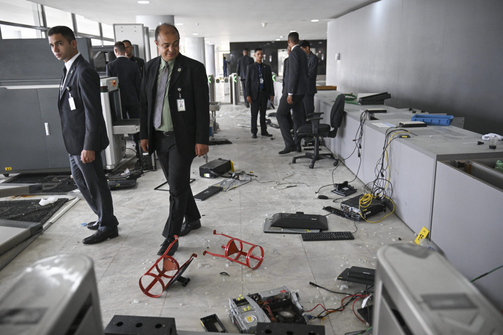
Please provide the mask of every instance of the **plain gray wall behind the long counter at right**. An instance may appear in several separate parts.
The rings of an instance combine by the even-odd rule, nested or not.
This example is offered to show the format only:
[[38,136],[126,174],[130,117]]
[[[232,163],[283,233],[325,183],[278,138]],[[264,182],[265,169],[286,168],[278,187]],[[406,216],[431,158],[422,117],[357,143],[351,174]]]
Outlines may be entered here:
[[328,23],[327,85],[503,135],[501,18],[501,0],[381,0]]

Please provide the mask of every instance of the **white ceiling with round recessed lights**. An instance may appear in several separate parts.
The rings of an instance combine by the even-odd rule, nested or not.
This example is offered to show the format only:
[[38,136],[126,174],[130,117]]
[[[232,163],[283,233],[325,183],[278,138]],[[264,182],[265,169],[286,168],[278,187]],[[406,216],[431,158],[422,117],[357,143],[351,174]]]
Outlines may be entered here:
[[[301,39],[326,39],[327,22],[378,0],[32,0],[102,23],[138,23],[136,15],[174,15],[182,37],[206,43],[286,40],[291,30]],[[318,19],[319,22],[311,22]],[[262,27],[262,22],[267,23]],[[140,22],[141,23],[141,22]],[[149,27],[154,29],[155,27]]]

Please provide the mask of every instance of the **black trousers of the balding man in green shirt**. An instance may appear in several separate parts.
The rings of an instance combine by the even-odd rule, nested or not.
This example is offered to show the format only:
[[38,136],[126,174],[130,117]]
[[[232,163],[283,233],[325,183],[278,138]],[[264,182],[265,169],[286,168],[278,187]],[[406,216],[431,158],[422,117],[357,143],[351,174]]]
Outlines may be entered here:
[[163,132],[155,132],[157,157],[169,185],[169,216],[162,231],[165,238],[180,234],[185,216],[188,222],[201,219],[190,185],[194,157],[180,155],[175,137],[172,132],[169,133],[171,135],[165,136]]

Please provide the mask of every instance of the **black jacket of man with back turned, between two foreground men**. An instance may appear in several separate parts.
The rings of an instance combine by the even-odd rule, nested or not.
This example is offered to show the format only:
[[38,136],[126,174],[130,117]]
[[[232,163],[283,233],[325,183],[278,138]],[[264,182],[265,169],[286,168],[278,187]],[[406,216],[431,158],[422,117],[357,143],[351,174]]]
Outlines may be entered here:
[[118,57],[107,64],[107,75],[119,79],[122,107],[140,105],[142,78],[140,69],[126,57]]

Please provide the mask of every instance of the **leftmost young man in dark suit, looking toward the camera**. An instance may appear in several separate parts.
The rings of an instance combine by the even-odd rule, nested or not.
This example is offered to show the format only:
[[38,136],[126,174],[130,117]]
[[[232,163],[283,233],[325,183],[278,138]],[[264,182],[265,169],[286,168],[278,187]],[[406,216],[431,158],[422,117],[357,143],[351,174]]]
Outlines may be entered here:
[[84,238],[82,243],[100,243],[119,236],[101,157],[109,140],[101,108],[100,76],[78,52],[70,28],[53,27],[48,36],[56,58],[65,61],[58,108],[73,180],[89,207],[98,215],[98,221],[87,224],[87,228],[97,232]]

